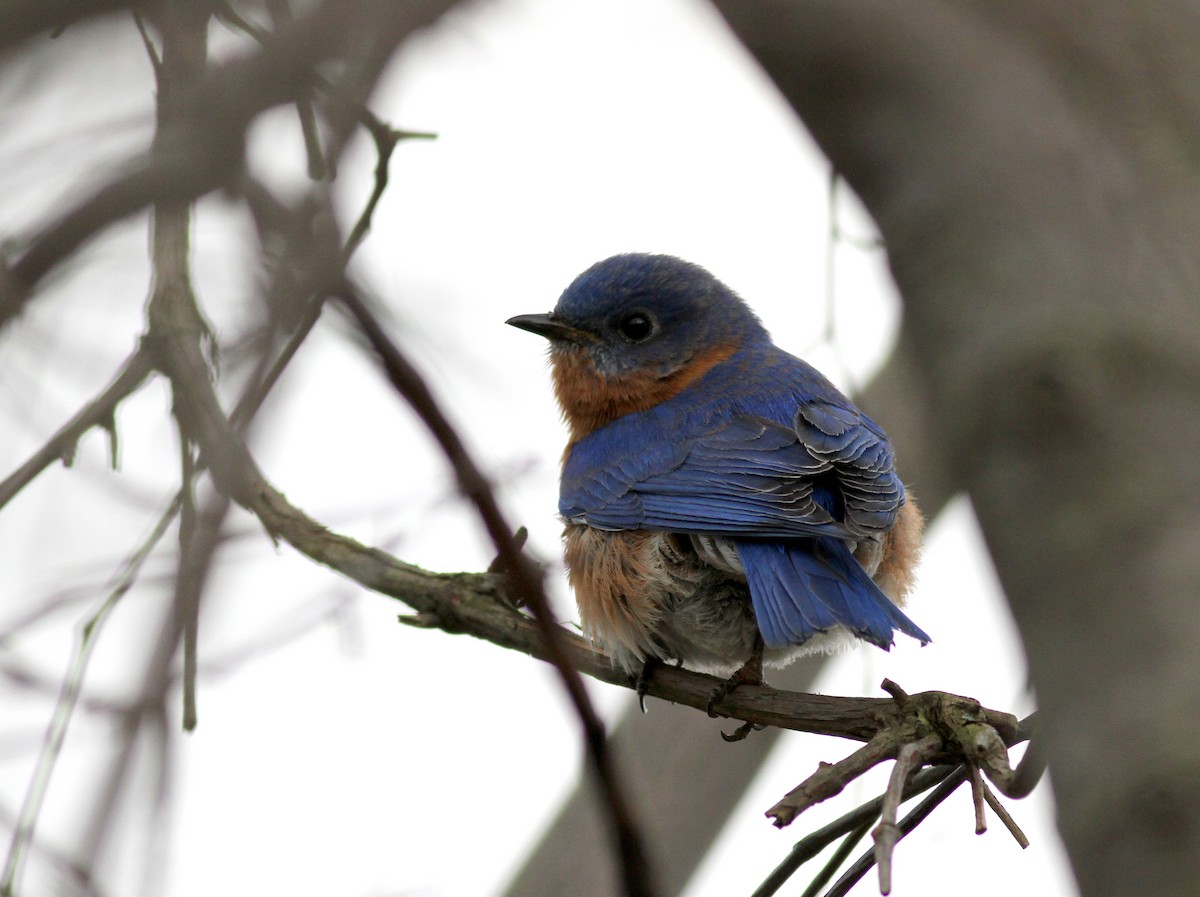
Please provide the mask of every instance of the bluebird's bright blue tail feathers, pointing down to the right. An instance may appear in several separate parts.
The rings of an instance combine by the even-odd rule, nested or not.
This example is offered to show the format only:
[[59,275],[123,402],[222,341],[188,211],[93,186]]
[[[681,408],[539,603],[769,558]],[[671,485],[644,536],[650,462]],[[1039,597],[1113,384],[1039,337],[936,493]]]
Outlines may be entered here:
[[755,619],[769,648],[798,645],[835,626],[884,650],[896,631],[922,644],[930,640],[880,591],[840,540],[736,544]]

